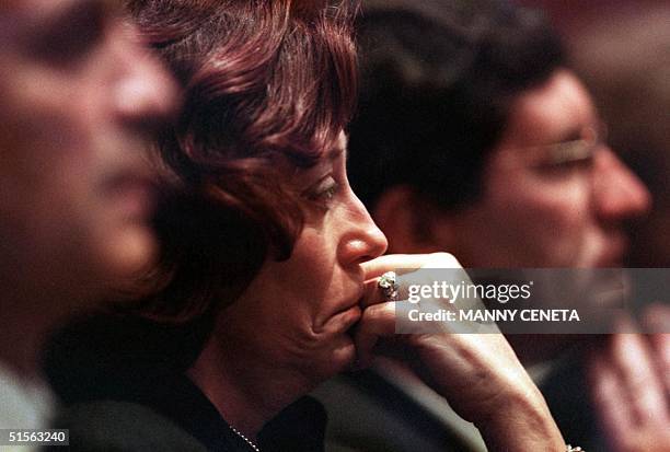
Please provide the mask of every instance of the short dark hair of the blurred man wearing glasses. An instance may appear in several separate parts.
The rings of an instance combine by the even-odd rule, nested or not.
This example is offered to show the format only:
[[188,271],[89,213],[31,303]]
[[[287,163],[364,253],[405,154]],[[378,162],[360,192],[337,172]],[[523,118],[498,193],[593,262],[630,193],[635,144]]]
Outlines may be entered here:
[[564,65],[543,18],[501,1],[363,3],[358,37],[348,172],[370,209],[396,185],[443,209],[474,201],[515,96]]

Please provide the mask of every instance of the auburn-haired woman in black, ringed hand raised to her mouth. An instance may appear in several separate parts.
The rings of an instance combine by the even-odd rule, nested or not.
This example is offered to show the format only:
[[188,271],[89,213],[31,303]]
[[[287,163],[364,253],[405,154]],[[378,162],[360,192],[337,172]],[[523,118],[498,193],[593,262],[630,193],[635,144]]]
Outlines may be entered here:
[[129,8],[184,90],[183,112],[159,146],[174,196],[157,219],[164,251],[153,293],[135,317],[70,331],[86,334],[85,345],[56,341],[53,357],[93,357],[73,364],[74,380],[58,378],[62,360],[51,367],[71,409],[141,405],[212,451],[322,450],[324,414],[304,395],[365,366],[380,341],[409,350],[492,449],[565,450],[501,335],[394,334],[394,302],[379,277],[458,263],[447,254],[380,258],[385,237],[349,187],[356,4]]

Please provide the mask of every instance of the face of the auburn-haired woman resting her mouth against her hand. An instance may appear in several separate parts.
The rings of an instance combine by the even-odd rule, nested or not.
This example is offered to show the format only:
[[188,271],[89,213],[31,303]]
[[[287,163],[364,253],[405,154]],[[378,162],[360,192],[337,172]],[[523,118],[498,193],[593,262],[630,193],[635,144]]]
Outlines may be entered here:
[[[221,315],[224,347],[319,383],[348,367],[348,331],[360,318],[360,264],[380,256],[386,239],[351,192],[346,138],[294,178],[308,215],[291,257],[268,259]],[[232,347],[232,348],[231,348]]]

